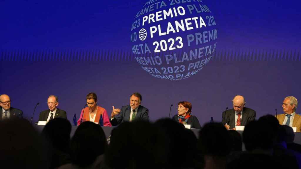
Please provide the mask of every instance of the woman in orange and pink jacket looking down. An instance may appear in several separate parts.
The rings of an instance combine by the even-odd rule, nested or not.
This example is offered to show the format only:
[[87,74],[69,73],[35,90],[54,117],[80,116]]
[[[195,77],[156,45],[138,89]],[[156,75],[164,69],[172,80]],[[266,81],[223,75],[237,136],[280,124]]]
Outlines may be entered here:
[[109,121],[107,110],[101,106],[97,106],[97,95],[95,93],[89,93],[86,96],[88,108],[82,109],[80,117],[77,121],[77,125],[84,121],[92,121],[95,123],[99,122],[100,116],[102,115],[104,126],[112,126]]

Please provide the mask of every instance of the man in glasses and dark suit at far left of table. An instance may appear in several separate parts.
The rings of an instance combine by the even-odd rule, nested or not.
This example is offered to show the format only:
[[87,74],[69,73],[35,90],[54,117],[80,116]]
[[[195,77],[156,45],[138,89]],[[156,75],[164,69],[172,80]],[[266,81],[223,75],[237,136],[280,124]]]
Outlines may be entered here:
[[22,118],[22,110],[11,107],[11,99],[7,94],[0,95],[0,105],[2,107],[0,120]]

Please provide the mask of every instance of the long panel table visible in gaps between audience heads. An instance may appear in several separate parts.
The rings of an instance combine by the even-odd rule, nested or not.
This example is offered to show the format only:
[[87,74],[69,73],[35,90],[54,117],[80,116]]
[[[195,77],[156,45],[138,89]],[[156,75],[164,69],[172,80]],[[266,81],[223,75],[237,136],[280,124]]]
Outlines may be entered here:
[[[37,129],[37,131],[42,132],[44,125],[36,125],[35,128]],[[104,134],[106,134],[106,137],[109,137],[111,134],[111,131],[113,130],[113,128],[115,127],[102,127],[102,129],[104,130]],[[70,137],[73,136],[74,132],[76,131],[77,126],[72,126],[71,129],[71,133],[70,133]],[[194,134],[196,135],[196,137],[199,137],[199,131],[198,129],[191,129]],[[240,134],[242,134],[243,131],[238,131]],[[301,133],[295,133],[295,143],[301,144]]]

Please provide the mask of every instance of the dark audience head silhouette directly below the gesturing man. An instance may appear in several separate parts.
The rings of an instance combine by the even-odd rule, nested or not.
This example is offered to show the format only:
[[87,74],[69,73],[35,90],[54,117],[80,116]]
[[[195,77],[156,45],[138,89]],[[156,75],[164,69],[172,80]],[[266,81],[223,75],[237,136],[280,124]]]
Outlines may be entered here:
[[153,168],[157,130],[147,121],[123,122],[111,132],[105,162],[110,168]]

